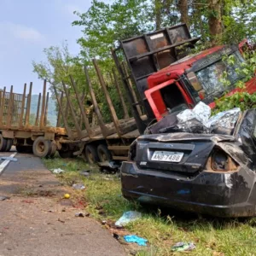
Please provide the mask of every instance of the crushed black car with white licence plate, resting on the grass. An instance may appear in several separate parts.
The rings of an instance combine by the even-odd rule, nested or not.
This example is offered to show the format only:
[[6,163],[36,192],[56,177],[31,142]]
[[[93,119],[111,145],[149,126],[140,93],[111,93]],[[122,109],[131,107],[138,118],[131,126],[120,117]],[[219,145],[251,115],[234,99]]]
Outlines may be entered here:
[[218,217],[256,215],[256,110],[234,129],[143,135],[121,167],[128,200]]

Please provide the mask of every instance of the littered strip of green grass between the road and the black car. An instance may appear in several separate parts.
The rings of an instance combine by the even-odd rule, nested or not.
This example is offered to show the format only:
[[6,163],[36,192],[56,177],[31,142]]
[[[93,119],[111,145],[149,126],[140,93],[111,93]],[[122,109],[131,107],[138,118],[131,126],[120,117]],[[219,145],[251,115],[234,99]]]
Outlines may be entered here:
[[[177,241],[193,241],[196,249],[190,255],[256,255],[256,218],[247,220],[198,218],[189,212],[143,208],[121,196],[119,178],[97,171],[83,160],[44,160],[49,168],[67,171],[59,176],[63,183],[83,182],[86,212],[98,220],[116,221],[125,211],[137,210],[143,218],[125,227],[130,234],[148,239],[147,249],[137,255],[178,255],[172,253]],[[90,177],[81,177],[79,171],[91,170]],[[97,209],[102,207],[103,214]],[[102,213],[101,212],[101,213]]]

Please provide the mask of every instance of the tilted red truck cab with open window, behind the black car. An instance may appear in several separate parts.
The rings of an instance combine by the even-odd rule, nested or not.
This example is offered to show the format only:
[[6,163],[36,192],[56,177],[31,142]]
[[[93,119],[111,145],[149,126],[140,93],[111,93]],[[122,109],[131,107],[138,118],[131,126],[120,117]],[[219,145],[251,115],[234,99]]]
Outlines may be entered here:
[[[149,76],[145,96],[155,118],[160,120],[166,113],[194,108],[201,100],[214,108],[215,98],[223,96],[226,91],[232,94],[240,90],[235,88],[236,82],[242,79],[236,69],[244,61],[241,55],[244,43],[246,42],[243,41],[239,47],[217,46],[186,56]],[[223,60],[224,55],[233,55],[235,64],[228,65]],[[224,71],[228,73],[229,87],[224,87],[220,80]],[[255,78],[247,82],[246,90],[250,94],[256,91]]]

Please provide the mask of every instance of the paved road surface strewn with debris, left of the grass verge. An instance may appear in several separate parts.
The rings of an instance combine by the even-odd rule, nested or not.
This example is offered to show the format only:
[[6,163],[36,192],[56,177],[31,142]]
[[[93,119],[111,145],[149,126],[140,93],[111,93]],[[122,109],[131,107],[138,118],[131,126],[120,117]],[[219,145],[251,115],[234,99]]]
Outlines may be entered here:
[[0,195],[10,196],[0,201],[0,256],[126,254],[95,220],[74,217],[78,209],[63,206],[67,188],[41,160],[29,154],[15,157],[18,161],[9,162],[0,175]]

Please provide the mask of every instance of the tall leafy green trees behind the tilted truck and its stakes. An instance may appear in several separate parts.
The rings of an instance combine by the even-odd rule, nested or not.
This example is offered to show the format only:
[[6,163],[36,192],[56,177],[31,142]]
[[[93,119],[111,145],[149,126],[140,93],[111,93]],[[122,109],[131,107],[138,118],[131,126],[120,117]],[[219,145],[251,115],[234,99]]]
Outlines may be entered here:
[[[195,37],[201,36],[196,50],[214,44],[238,44],[243,38],[253,42],[255,13],[256,3],[253,0],[112,0],[109,3],[92,0],[86,12],[79,13],[74,9],[76,20],[73,26],[79,26],[83,32],[82,37],[78,38],[81,47],[79,55],[70,55],[67,43],[62,47],[52,46],[44,49],[46,61],[33,62],[33,69],[40,79],[47,79],[57,89],[61,89],[61,81],[70,84],[69,75],[72,75],[79,92],[84,95],[84,105],[90,108],[83,70],[84,65],[88,66],[96,98],[101,102],[102,116],[105,121],[109,121],[110,114],[96,72],[92,68],[92,58],[99,61],[108,90],[114,99],[113,105],[118,116],[122,117],[119,96],[111,79],[114,65],[110,56],[110,49],[117,47],[119,40],[185,22]],[[70,94],[73,95],[72,88]],[[236,105],[240,103],[239,97],[236,95],[229,102]],[[77,107],[75,101],[73,104]],[[73,121],[70,123],[72,125]]]

